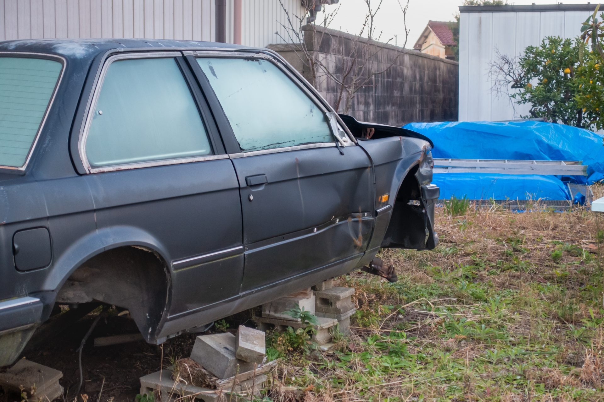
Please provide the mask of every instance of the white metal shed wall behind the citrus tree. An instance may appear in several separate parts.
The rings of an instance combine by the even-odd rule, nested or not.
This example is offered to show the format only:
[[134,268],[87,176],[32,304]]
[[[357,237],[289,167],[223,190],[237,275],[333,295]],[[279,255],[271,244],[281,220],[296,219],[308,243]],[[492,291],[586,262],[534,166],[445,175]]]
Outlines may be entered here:
[[[546,36],[574,38],[593,11],[461,13],[459,46],[459,120],[501,121],[528,115],[530,105],[515,105],[508,96],[496,98],[489,63],[501,54],[518,56]],[[509,90],[513,93],[512,89]]]

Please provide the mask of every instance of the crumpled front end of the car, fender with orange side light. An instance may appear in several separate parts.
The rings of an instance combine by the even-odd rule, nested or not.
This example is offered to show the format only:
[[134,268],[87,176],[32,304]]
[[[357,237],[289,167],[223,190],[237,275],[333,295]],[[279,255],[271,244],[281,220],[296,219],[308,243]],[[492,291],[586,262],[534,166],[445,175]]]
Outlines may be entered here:
[[[432,250],[438,243],[434,202],[440,195],[439,187],[430,184],[432,142],[405,128],[340,116],[375,169],[376,227],[368,254],[379,248]],[[380,198],[384,195],[387,201]]]

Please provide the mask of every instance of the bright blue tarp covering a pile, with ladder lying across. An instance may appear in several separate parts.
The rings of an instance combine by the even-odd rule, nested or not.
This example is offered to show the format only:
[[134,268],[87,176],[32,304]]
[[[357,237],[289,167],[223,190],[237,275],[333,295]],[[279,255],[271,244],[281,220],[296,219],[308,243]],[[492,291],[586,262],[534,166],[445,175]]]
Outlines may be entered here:
[[604,137],[582,128],[535,121],[410,123],[404,128],[429,137],[435,158],[582,160],[589,165],[588,177],[435,174],[444,198],[568,199],[564,182],[592,184],[604,178]]

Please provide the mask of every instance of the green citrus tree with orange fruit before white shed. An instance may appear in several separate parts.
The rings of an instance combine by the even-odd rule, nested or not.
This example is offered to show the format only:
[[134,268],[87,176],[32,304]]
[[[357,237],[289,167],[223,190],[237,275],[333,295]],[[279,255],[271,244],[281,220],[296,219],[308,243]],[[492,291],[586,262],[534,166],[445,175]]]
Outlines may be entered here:
[[597,19],[599,7],[574,40],[549,36],[518,57],[495,49],[497,57],[489,63],[492,92],[516,104],[530,104],[530,115],[522,118],[604,128],[604,13]]

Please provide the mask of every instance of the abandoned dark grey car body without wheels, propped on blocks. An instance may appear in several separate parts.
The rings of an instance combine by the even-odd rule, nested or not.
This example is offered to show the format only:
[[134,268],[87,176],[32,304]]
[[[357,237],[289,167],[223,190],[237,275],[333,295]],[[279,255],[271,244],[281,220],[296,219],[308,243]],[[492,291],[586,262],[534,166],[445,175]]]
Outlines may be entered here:
[[275,52],[0,43],[0,365],[59,304],[147,342],[435,247],[432,144],[357,122]]

